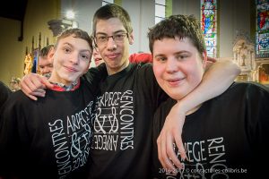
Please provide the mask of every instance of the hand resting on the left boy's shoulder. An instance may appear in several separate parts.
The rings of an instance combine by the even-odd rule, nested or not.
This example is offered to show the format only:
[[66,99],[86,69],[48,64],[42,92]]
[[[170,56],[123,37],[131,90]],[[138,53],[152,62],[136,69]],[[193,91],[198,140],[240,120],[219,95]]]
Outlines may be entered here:
[[36,73],[29,73],[22,78],[21,89],[23,93],[33,100],[37,97],[45,97],[46,88],[52,88],[53,85],[48,79]]

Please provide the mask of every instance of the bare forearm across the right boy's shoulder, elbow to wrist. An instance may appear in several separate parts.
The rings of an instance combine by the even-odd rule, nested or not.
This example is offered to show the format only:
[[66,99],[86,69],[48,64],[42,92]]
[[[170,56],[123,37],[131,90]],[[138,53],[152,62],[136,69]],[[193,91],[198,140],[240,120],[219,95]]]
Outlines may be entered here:
[[240,69],[237,64],[230,60],[221,60],[213,63],[204,72],[201,83],[185,98],[178,101],[181,110],[187,111],[199,106],[211,98],[221,95],[230,87],[230,84],[239,75]]

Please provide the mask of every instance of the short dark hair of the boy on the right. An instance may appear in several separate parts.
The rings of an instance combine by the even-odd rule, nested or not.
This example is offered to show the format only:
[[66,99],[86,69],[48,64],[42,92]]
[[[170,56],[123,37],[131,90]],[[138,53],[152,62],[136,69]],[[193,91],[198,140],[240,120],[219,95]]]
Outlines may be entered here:
[[194,15],[171,15],[153,26],[148,38],[152,53],[155,40],[162,38],[189,38],[201,55],[206,50],[203,31]]

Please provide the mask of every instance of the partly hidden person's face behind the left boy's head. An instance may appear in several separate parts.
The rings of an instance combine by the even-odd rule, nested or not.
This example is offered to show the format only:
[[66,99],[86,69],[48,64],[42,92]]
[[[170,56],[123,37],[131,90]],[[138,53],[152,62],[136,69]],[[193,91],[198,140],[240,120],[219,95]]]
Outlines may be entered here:
[[53,69],[53,48],[54,45],[43,47],[39,53],[39,71],[42,76],[49,78]]

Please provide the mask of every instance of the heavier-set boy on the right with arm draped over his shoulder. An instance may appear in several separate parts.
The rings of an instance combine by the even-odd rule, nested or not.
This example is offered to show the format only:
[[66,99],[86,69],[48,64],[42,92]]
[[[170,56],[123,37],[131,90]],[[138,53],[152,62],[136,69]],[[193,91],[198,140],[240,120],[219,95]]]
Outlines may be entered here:
[[152,177],[257,178],[266,171],[262,160],[268,161],[269,150],[269,90],[258,83],[234,82],[187,111],[182,129],[187,160],[176,146],[174,151],[183,169],[167,170],[158,159],[166,116],[203,81],[207,55],[199,24],[194,16],[172,15],[148,33],[154,74],[169,95],[154,115]]

